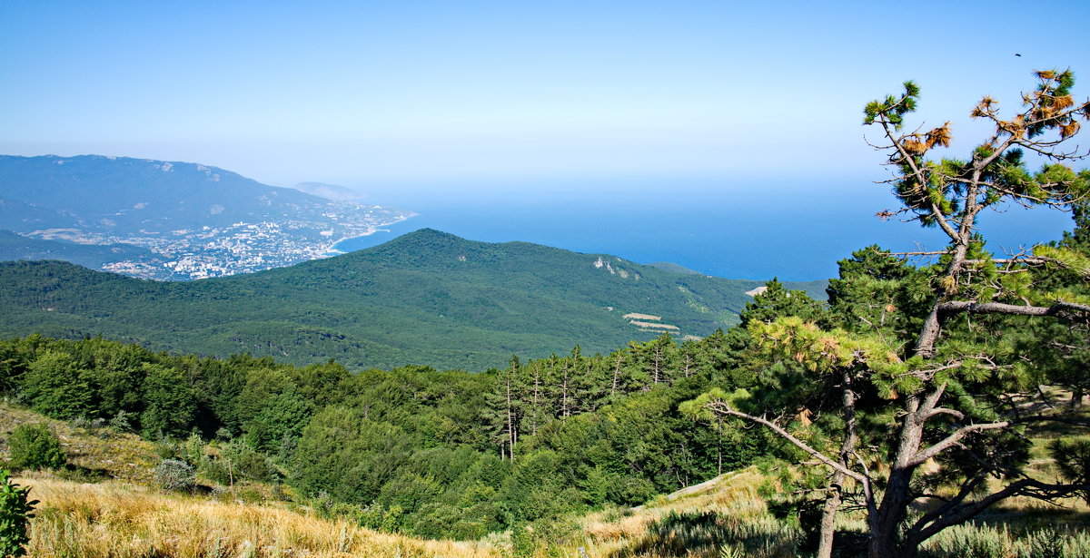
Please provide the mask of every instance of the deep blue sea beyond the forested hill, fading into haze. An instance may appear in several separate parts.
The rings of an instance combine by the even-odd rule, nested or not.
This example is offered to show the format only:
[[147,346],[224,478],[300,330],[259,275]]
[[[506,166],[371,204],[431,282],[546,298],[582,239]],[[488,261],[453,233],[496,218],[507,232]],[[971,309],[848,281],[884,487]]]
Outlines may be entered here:
[[[871,244],[895,251],[944,246],[935,229],[875,213],[896,209],[888,186],[865,179],[783,184],[761,180],[640,180],[428,184],[372,189],[368,203],[419,215],[351,252],[433,228],[484,242],[525,241],[647,264],[670,262],[732,279],[836,277],[838,259]],[[996,253],[1058,239],[1068,214],[1003,208],[982,230]]]

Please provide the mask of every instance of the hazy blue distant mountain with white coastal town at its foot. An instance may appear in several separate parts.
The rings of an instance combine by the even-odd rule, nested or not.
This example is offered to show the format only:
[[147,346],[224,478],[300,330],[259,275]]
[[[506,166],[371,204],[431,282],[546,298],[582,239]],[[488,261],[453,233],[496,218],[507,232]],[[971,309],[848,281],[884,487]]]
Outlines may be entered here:
[[[116,252],[99,266],[135,277],[194,279],[290,265],[412,215],[194,162],[0,156],[0,230],[141,246],[152,255]],[[72,251],[55,252],[63,258]],[[33,251],[20,257],[34,257]]]

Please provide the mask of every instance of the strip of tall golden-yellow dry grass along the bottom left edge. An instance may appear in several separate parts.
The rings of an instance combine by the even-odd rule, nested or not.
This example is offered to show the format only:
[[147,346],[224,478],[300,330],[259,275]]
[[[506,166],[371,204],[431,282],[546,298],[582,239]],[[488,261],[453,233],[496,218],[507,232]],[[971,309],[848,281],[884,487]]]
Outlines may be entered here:
[[421,541],[327,520],[279,504],[225,504],[121,483],[19,478],[40,500],[29,556],[263,558],[499,556],[483,543]]

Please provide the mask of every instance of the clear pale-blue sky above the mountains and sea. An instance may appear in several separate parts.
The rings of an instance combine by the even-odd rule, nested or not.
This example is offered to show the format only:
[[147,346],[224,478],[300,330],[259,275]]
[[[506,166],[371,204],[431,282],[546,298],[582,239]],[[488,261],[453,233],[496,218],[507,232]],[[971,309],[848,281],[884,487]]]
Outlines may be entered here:
[[978,138],[971,106],[1017,106],[1033,69],[1070,66],[1090,90],[1088,15],[1086,0],[2,0],[0,153],[196,161],[274,185],[858,185],[883,178],[865,101],[913,78],[929,123]]

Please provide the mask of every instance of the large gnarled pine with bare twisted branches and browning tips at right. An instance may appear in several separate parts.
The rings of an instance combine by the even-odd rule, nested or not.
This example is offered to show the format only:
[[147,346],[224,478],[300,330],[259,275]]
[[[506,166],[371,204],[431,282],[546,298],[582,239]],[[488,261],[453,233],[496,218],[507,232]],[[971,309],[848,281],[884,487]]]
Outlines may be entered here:
[[[903,131],[919,98],[915,83],[907,82],[900,95],[870,102],[864,123],[877,126],[885,138],[877,148],[888,155],[893,178],[886,182],[901,206],[879,215],[938,228],[948,245],[905,254],[937,258],[919,277],[886,257],[857,253],[855,262],[841,266],[841,280],[831,286],[834,317],[825,327],[799,315],[747,324],[759,347],[796,360],[816,373],[814,381],[839,377],[841,451],[795,436],[788,422],[776,418],[785,416],[783,410],[772,412],[748,392],[713,391],[690,405],[766,426],[833,471],[831,486],[852,481],[868,514],[871,557],[915,557],[929,537],[1006,498],[1055,499],[1090,489],[1086,445],[1053,445],[1059,481],[1027,472],[1025,428],[1075,418],[1030,404],[1046,393],[1038,386],[1054,381],[1053,371],[1043,361],[1028,363],[1015,343],[1025,341],[1017,332],[1029,319],[1090,319],[1090,299],[1070,283],[1043,280],[1057,269],[1086,278],[1090,266],[1064,246],[996,257],[985,250],[978,228],[985,209],[1069,209],[1090,190],[1090,172],[1065,165],[1086,156],[1070,147],[1070,140],[1079,120],[1090,119],[1090,102],[1075,101],[1070,71],[1036,75],[1037,88],[1008,119],[991,97],[973,108],[972,116],[989,121],[994,133],[965,159],[931,158],[950,145],[949,122]],[[1028,169],[1027,151],[1044,161],[1039,171]],[[897,411],[884,409],[891,405]],[[856,420],[860,412],[870,414],[865,423]],[[873,430],[861,432],[861,424]],[[862,436],[881,444],[867,449],[858,444]],[[934,463],[937,472],[925,473],[924,463]],[[998,480],[997,486],[990,478]],[[940,496],[934,490],[940,486],[952,492]],[[935,501],[934,509],[910,514],[909,504],[921,497]],[[819,556],[827,557],[832,523],[823,530]]]

